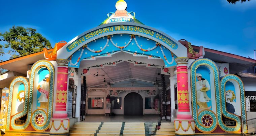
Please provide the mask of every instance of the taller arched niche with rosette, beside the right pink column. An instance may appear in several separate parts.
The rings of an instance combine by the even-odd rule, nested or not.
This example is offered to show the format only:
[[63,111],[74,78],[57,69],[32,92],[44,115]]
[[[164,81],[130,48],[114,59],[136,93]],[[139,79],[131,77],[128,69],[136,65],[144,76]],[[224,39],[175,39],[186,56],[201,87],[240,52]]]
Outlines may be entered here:
[[[218,105],[217,105],[217,94],[219,93],[219,73],[216,64],[210,59],[197,59],[189,67],[190,70],[190,83],[191,83],[191,107],[192,107],[192,117],[195,120],[195,125],[197,130],[202,133],[211,133],[218,126]],[[208,86],[202,90],[198,88],[198,74],[207,80]],[[200,75],[199,75],[200,76]],[[201,83],[202,84],[202,83]],[[206,82],[205,82],[206,84]],[[200,91],[198,93],[198,91]],[[210,92],[209,92],[210,91]],[[199,109],[198,106],[198,95],[202,96],[203,104],[207,104],[204,108]],[[206,101],[206,97],[210,99]],[[204,98],[205,97],[205,98]],[[210,107],[211,106],[211,107]],[[220,107],[219,107],[220,108]],[[207,121],[206,121],[207,120]]]

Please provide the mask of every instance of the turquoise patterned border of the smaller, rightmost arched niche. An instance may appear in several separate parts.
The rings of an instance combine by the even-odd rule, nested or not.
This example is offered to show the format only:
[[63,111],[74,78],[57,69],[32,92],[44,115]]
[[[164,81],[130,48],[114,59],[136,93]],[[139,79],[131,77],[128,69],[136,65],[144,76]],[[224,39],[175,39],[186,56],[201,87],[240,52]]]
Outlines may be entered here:
[[[235,118],[237,121],[237,125],[235,127],[234,131],[238,131],[240,129],[241,126],[241,120],[238,116],[230,114],[227,112],[226,110],[226,99],[225,99],[225,83],[227,81],[230,80],[235,80],[237,81],[238,85],[239,85],[239,89],[240,89],[240,93],[241,93],[241,110],[242,110],[242,118],[245,121],[246,120],[246,103],[245,103],[245,90],[244,90],[244,85],[242,80],[236,76],[236,75],[226,75],[221,79],[221,105],[223,107],[222,113],[227,116],[227,117],[231,117],[231,118]],[[244,130],[247,130],[247,123],[244,124]],[[229,128],[227,128],[225,125],[221,126],[222,128],[224,128],[225,130],[229,130]],[[229,130],[232,131],[232,130]]]

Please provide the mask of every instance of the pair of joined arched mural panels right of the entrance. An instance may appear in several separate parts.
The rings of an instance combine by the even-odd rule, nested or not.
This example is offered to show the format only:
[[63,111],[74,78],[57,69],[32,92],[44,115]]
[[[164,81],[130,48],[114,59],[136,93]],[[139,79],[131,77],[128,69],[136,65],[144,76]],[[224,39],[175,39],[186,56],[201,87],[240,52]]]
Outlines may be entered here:
[[[201,69],[202,66],[208,67],[210,71],[205,71],[205,73],[203,73],[204,70]],[[195,120],[197,130],[203,133],[211,133],[216,129],[217,126],[219,126],[220,129],[224,132],[241,133],[241,119],[239,116],[236,115],[240,114],[243,120],[246,120],[244,86],[241,79],[239,79],[239,77],[235,75],[227,75],[222,78],[220,83],[218,67],[213,61],[209,59],[198,59],[194,61],[190,66],[190,72],[193,107],[192,116]],[[204,78],[204,80],[207,80],[209,83],[207,83],[206,81],[203,82],[202,78]],[[201,83],[198,81],[200,81]],[[203,86],[204,83],[205,86]],[[211,90],[213,89],[213,87],[209,90],[207,89],[207,86],[214,86],[215,90]],[[208,91],[205,91],[206,93],[202,93],[203,91],[200,88],[203,87],[205,87],[204,90],[208,90],[210,92],[208,94]],[[198,93],[198,91],[200,91],[199,89],[202,92]],[[214,93],[215,95],[212,93]],[[242,114],[241,112],[237,113],[239,110],[236,110],[238,109],[238,93],[241,94],[241,97],[239,97],[239,105],[241,105],[240,109],[242,111]],[[210,105],[210,102],[213,100],[216,101],[216,105],[213,105],[213,103],[212,105]],[[198,102],[203,104],[200,104]],[[207,104],[207,106],[205,103]],[[227,103],[229,103],[230,106],[236,108],[226,107]],[[201,108],[202,106],[203,108]],[[210,108],[210,106],[212,107]],[[213,108],[215,106],[216,113],[215,108]],[[198,110],[200,111],[198,112]],[[244,130],[247,129],[246,124],[243,127]]]

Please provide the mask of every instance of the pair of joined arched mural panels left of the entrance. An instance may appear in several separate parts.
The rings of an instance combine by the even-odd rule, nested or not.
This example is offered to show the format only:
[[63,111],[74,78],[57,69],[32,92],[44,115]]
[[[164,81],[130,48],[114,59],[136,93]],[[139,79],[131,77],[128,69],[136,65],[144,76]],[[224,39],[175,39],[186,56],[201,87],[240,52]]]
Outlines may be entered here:
[[29,82],[25,77],[14,78],[10,85],[6,130],[22,131],[30,124],[37,131],[48,129],[53,85],[54,67],[45,60],[32,66]]

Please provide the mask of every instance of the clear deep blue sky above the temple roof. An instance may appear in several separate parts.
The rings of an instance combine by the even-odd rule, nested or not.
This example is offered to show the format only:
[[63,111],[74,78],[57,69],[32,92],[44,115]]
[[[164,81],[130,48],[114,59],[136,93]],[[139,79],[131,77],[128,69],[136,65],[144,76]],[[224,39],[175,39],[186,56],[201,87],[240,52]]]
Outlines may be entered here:
[[[127,11],[147,26],[176,40],[254,59],[256,0],[229,4],[226,0],[125,0]],[[117,0],[3,1],[0,32],[13,25],[37,29],[52,46],[97,27],[115,12]],[[0,42],[0,44],[4,44]],[[5,49],[7,52],[8,49]],[[0,56],[7,60],[10,56]]]

